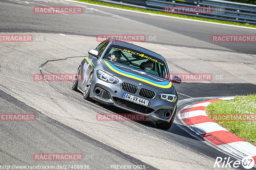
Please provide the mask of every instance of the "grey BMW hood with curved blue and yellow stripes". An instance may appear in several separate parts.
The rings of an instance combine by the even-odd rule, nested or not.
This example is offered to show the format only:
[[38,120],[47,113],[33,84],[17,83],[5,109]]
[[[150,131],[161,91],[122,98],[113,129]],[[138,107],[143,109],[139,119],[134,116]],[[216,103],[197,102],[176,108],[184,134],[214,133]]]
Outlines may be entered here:
[[140,83],[147,83],[148,86],[151,86],[159,90],[163,90],[164,92],[172,93],[174,91],[174,87],[172,86],[171,81],[167,81],[166,79],[163,79],[156,75],[149,74],[139,69],[125,66],[123,64],[113,62],[110,60],[102,59],[100,62],[104,67],[105,71],[110,74],[116,75],[118,77],[123,77],[126,79],[135,80]]

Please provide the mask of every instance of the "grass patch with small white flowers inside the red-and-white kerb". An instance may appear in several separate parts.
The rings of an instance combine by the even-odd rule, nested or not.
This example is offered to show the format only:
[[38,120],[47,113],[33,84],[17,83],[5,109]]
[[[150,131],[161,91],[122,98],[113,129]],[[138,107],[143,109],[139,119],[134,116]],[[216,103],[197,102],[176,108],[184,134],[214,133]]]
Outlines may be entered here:
[[[253,114],[256,117],[256,94],[236,96],[233,100],[221,100],[208,105],[206,114],[214,120],[213,114]],[[255,118],[253,119],[255,120]],[[228,131],[256,146],[256,121],[215,121]]]

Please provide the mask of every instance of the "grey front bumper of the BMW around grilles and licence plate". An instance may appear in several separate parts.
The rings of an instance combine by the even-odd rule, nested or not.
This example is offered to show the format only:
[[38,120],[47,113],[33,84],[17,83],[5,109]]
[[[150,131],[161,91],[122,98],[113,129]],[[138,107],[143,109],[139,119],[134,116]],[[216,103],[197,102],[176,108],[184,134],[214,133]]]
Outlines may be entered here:
[[[155,122],[170,122],[174,110],[177,107],[178,99],[175,103],[166,102],[164,100],[161,100],[158,96],[159,93],[164,93],[164,91],[161,91],[156,88],[152,88],[151,86],[148,86],[146,83],[142,83],[142,86],[139,86],[139,81],[134,81],[130,79],[125,79],[123,77],[117,77],[115,76],[119,82],[117,84],[108,83],[105,81],[100,80],[96,74],[94,74],[94,78],[92,81],[91,91],[90,91],[90,97],[99,103],[106,104],[106,105],[113,105],[119,108],[122,108],[124,110],[127,110],[132,113],[142,114],[147,117],[147,120],[153,120]],[[151,89],[156,92],[156,96],[153,99],[148,99],[145,97],[141,97],[138,95],[138,91],[136,94],[132,94],[129,92],[126,92],[121,89],[121,83],[122,82],[129,82],[132,83],[140,88],[146,88]],[[95,94],[95,89],[104,89],[105,92],[101,93],[100,95]],[[107,94],[108,93],[108,94]],[[133,103],[132,101],[127,101],[125,99],[122,99],[122,96],[124,93],[131,94],[136,97],[140,97],[143,99],[146,99],[149,101],[148,106],[143,106],[137,103]],[[163,111],[165,110],[171,110],[171,116],[166,118],[163,116]]]

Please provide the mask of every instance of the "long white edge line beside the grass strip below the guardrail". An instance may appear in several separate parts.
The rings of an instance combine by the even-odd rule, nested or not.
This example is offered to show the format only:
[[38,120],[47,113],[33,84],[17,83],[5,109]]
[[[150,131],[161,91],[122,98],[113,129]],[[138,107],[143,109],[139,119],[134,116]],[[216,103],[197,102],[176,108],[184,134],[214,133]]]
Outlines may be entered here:
[[229,24],[215,23],[215,22],[209,22],[209,21],[200,21],[200,20],[188,19],[188,18],[172,17],[172,16],[167,16],[167,15],[152,14],[152,13],[140,12],[140,11],[132,11],[132,10],[126,10],[126,9],[114,8],[114,7],[103,6],[103,5],[96,5],[96,4],[89,4],[89,3],[85,3],[85,2],[78,2],[78,1],[72,1],[72,0],[63,0],[63,1],[76,2],[76,3],[87,4],[87,5],[92,5],[92,6],[99,6],[99,7],[103,7],[103,8],[110,8],[110,9],[115,9],[115,10],[120,10],[120,11],[129,11],[129,12],[141,13],[141,14],[146,14],[146,15],[151,15],[151,16],[174,18],[174,19],[182,19],[182,20],[187,20],[187,21],[195,21],[195,22],[202,22],[202,23],[208,23],[208,24],[224,25],[224,26],[232,26],[232,27],[256,30],[256,28],[253,28],[253,27],[246,27],[246,26],[239,26],[239,25],[229,25]]

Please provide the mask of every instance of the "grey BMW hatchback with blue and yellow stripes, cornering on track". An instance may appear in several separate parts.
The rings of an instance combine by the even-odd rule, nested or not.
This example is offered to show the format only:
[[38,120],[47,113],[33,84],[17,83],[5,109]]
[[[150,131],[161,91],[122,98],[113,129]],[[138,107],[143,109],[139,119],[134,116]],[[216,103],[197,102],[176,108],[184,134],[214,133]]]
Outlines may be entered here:
[[[178,95],[164,57],[131,43],[106,39],[80,63],[72,89],[84,99],[113,105],[155,121],[168,130],[176,115]],[[78,77],[81,76],[81,79]]]

